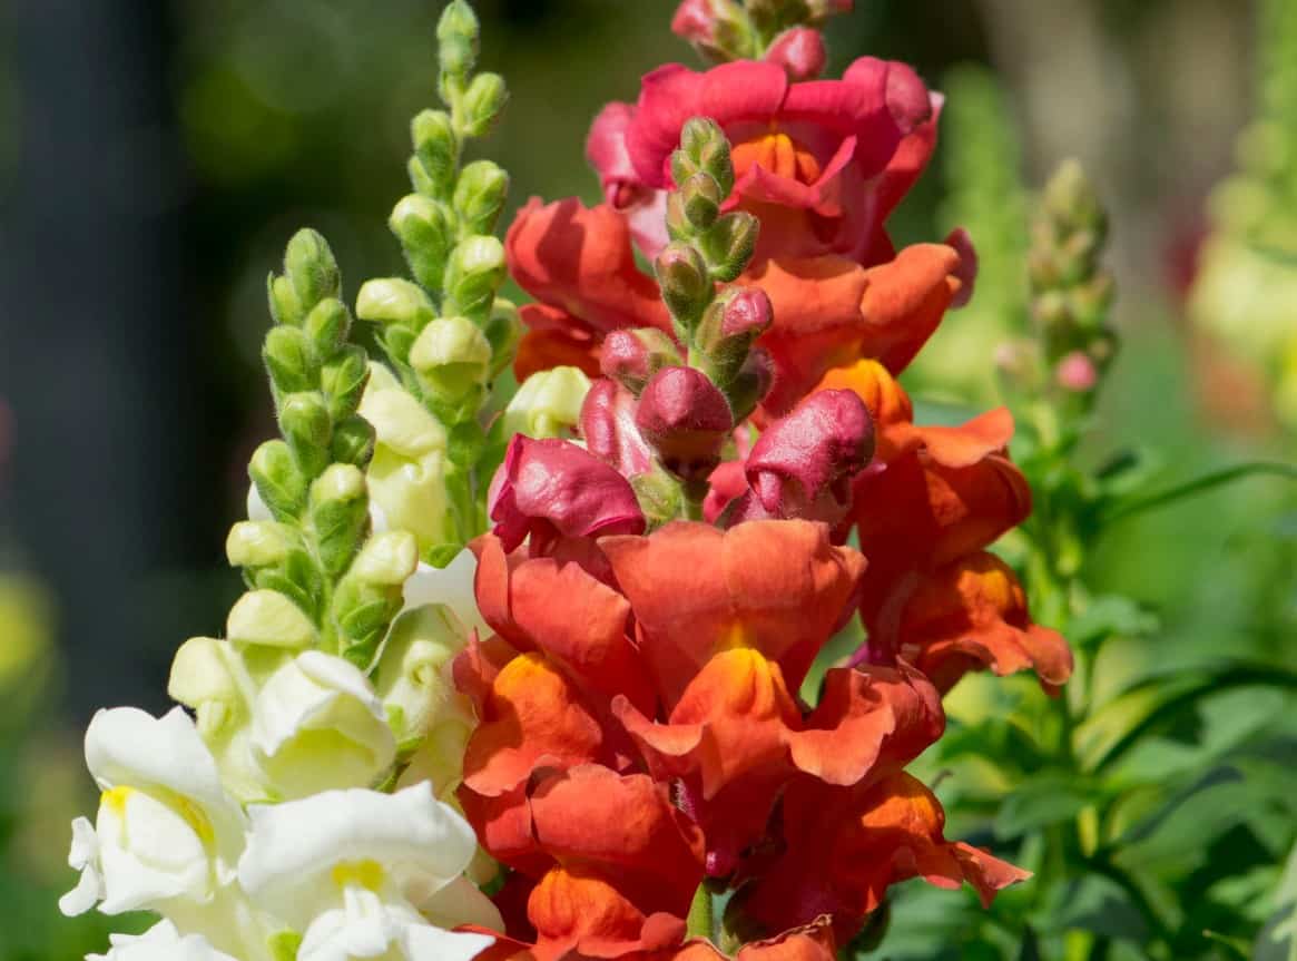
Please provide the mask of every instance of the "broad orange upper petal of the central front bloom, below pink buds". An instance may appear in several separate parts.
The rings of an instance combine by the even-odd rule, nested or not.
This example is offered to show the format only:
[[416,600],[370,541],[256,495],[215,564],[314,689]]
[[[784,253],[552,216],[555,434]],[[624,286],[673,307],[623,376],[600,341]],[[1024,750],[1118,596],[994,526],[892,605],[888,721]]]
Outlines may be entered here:
[[668,709],[720,650],[751,647],[790,689],[850,617],[865,562],[821,524],[752,521],[721,532],[676,521],[601,538],[630,599],[639,651]]

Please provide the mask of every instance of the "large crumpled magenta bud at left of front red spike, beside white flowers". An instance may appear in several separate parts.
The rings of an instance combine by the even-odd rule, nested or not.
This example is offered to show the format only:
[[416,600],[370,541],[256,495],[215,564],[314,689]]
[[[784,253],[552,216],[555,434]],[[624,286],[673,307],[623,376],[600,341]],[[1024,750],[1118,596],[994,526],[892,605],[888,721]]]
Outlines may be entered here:
[[488,507],[506,551],[528,536],[536,555],[560,537],[645,530],[629,481],[575,444],[553,438],[514,437],[492,481]]

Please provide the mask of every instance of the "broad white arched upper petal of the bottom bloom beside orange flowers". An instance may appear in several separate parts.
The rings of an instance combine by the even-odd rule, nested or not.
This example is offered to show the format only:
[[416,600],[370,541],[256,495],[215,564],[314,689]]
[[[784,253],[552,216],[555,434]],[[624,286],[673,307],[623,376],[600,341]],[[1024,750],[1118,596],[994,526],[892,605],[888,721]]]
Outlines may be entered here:
[[425,783],[390,795],[326,791],[249,813],[239,881],[297,927],[303,912],[314,914],[339,864],[374,861],[398,888],[432,891],[459,877],[476,848],[468,824]]

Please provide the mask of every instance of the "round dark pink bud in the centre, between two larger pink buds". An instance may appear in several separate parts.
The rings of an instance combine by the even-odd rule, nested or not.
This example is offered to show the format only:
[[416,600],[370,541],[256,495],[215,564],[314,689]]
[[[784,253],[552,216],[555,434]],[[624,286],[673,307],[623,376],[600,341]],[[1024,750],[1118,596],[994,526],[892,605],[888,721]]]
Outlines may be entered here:
[[720,463],[734,418],[725,394],[707,375],[693,367],[667,367],[639,396],[636,427],[668,471],[700,481]]

